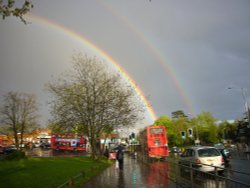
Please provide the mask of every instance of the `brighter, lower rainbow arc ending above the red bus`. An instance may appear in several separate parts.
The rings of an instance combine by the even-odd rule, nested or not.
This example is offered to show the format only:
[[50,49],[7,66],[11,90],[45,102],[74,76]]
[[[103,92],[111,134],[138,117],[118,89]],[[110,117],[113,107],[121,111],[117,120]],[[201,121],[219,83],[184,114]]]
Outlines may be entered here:
[[98,46],[96,46],[93,42],[89,41],[88,39],[86,39],[85,37],[80,35],[79,33],[74,32],[74,31],[64,27],[63,25],[60,25],[58,23],[52,22],[51,20],[48,20],[48,19],[45,19],[42,17],[38,17],[35,15],[31,15],[31,14],[28,14],[27,17],[29,19],[33,20],[34,22],[41,23],[41,24],[46,25],[50,28],[53,28],[57,31],[63,32],[64,34],[66,34],[70,38],[81,42],[85,47],[87,47],[91,51],[93,51],[96,54],[98,54],[99,56],[101,56],[107,62],[110,62],[119,71],[119,73],[126,79],[126,81],[134,88],[134,90],[136,91],[136,93],[140,97],[141,101],[145,105],[152,121],[155,121],[157,119],[157,116],[156,116],[156,113],[154,112],[153,107],[151,106],[150,102],[147,100],[147,98],[143,94],[140,87],[136,84],[136,82],[132,79],[132,77],[104,50],[98,48]]

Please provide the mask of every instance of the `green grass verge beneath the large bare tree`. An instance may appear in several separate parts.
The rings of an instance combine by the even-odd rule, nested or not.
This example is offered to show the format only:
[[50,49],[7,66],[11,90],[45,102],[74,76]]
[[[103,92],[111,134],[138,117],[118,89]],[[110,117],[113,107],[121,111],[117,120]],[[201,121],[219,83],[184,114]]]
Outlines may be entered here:
[[[49,188],[58,187],[74,177],[74,188],[111,165],[107,160],[95,161],[89,157],[27,158],[18,161],[0,161],[0,187]],[[64,186],[67,187],[67,186]]]

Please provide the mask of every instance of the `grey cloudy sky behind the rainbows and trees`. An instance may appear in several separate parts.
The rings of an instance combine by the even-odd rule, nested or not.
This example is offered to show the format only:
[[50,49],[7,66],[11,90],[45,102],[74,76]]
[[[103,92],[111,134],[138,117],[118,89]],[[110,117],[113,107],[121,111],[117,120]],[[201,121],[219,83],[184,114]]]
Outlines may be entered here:
[[[36,94],[44,122],[49,118],[44,84],[68,70],[78,52],[104,59],[107,66],[113,65],[105,56],[112,58],[158,117],[183,110],[190,116],[211,112],[219,120],[242,118],[241,88],[250,103],[248,0],[33,3],[28,25],[0,20],[0,95]],[[150,115],[144,123],[152,123]]]

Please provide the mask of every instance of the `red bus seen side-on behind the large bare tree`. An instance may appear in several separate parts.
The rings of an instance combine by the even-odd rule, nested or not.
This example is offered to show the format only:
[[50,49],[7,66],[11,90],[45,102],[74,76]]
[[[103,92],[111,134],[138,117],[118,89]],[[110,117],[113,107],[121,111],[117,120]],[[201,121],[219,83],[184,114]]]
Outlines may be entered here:
[[51,149],[56,150],[86,151],[87,140],[83,136],[53,135],[50,144]]

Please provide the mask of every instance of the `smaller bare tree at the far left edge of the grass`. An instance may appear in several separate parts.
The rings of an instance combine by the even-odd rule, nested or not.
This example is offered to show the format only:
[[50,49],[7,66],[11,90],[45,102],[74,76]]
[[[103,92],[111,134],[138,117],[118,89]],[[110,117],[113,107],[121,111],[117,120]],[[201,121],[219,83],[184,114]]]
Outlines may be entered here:
[[18,150],[23,144],[23,136],[37,124],[37,104],[34,95],[18,92],[9,92],[4,96],[1,109],[3,125],[13,133]]

